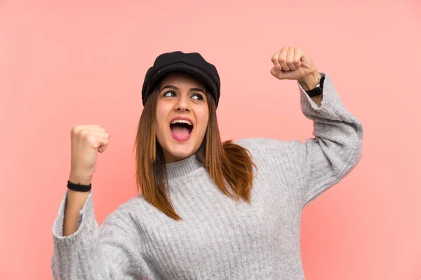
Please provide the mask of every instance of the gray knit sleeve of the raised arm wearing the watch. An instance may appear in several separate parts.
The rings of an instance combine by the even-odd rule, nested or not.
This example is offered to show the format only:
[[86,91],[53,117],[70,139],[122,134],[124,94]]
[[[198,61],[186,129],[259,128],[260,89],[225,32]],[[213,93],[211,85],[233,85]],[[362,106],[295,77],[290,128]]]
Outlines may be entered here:
[[325,77],[321,106],[298,83],[302,113],[314,122],[314,138],[292,142],[303,176],[303,206],[347,176],[362,156],[361,122],[342,104],[328,74],[320,73]]

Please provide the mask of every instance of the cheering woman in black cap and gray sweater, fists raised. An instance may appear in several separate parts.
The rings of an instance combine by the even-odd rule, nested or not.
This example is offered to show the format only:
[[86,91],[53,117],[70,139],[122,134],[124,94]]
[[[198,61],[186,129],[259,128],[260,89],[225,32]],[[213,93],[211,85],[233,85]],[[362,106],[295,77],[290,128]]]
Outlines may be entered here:
[[145,76],[135,141],[142,193],[101,227],[91,179],[109,134],[74,127],[54,279],[304,279],[302,209],[356,166],[363,128],[301,48],[283,46],[272,62],[274,77],[298,81],[315,138],[221,143],[215,66],[196,52],[160,55]]

